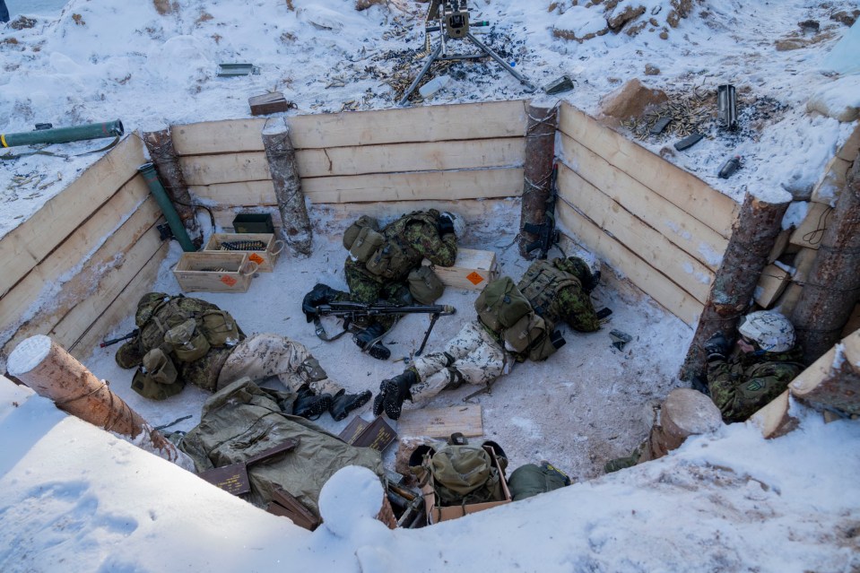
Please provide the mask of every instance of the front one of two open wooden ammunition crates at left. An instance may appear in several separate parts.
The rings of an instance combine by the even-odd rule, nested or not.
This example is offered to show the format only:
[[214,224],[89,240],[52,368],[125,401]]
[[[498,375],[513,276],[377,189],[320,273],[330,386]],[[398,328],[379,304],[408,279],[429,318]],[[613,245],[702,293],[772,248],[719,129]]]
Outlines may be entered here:
[[246,292],[256,267],[248,253],[198,251],[183,253],[173,274],[186,292]]

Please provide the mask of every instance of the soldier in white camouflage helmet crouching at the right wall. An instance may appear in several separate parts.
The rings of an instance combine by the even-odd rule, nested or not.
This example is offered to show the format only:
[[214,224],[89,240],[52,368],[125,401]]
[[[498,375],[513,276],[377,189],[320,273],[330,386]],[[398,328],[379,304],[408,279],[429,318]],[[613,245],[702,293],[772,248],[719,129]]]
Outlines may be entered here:
[[795,347],[795,328],[778,312],[760,310],[738,326],[731,343],[722,333],[705,343],[708,352],[708,393],[726,423],[744,421],[785,392],[803,369],[802,352]]

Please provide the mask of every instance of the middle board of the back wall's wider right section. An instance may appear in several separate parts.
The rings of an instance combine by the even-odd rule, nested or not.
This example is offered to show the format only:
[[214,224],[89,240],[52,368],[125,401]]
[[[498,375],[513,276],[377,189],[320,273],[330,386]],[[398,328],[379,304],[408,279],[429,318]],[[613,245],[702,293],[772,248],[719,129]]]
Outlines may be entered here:
[[301,178],[399,171],[522,167],[526,139],[477,139],[430,143],[387,143],[299,150]]

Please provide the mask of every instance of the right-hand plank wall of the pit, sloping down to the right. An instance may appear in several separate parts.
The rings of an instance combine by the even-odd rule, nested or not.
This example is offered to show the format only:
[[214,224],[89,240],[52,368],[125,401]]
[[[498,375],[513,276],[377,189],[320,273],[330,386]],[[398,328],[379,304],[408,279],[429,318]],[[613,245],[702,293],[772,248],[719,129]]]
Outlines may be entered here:
[[695,324],[739,205],[569,104],[559,126],[560,228]]

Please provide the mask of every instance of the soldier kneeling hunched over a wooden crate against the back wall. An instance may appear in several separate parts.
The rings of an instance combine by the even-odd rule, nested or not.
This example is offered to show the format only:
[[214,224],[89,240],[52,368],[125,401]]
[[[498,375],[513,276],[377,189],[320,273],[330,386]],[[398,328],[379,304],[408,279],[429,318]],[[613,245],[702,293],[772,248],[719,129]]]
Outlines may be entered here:
[[[457,237],[462,236],[464,230],[463,219],[455,213],[439,213],[435,209],[407,213],[378,230],[382,242],[368,258],[356,258],[352,251],[346,257],[343,272],[349,292],[317,284],[305,295],[302,309],[309,319],[314,308],[329,302],[412,304],[407,282],[409,273],[420,267],[425,258],[432,265],[453,266]],[[391,352],[380,338],[394,326],[396,319],[396,315],[387,315],[361,325],[363,329],[354,335],[354,342],[373,358],[387,360]]]

